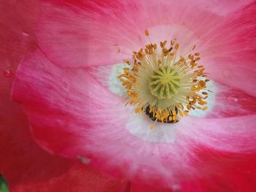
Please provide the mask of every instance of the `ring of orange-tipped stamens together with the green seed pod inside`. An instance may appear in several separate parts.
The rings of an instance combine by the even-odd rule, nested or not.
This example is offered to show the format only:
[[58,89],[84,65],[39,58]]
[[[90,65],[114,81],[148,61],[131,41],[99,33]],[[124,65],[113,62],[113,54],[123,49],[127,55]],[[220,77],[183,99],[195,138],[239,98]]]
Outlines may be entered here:
[[[149,36],[148,30],[145,35]],[[158,45],[150,42],[132,52],[133,61],[124,60],[127,67],[118,79],[127,91],[127,104],[135,105],[135,113],[147,115],[154,123],[177,123],[190,110],[208,109],[209,79],[205,67],[198,64],[200,53],[195,47],[182,55],[176,39]]]

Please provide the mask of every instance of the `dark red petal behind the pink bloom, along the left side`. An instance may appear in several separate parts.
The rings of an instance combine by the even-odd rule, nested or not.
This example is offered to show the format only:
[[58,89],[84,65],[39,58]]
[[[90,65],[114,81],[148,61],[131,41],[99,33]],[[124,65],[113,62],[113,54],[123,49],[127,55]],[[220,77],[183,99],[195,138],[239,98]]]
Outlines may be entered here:
[[129,183],[105,177],[80,161],[50,155],[37,145],[23,107],[10,96],[18,64],[37,49],[37,1],[1,1],[0,9],[0,173],[9,190],[125,191]]

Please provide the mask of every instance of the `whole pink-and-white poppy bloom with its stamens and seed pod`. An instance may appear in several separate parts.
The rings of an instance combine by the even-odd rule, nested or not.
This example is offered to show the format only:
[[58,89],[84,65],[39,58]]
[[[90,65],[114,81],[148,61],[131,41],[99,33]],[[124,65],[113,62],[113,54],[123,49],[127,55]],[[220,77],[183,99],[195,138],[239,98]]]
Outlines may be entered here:
[[131,191],[255,190],[255,2],[39,5],[12,96],[44,150]]

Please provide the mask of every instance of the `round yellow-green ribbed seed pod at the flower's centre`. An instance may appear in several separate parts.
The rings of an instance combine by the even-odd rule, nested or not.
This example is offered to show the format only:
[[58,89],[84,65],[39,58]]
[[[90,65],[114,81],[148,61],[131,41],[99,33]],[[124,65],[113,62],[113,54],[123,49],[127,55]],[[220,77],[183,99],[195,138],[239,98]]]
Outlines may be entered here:
[[160,66],[151,75],[151,82],[148,83],[151,94],[158,99],[170,99],[178,93],[181,77],[176,70],[170,66]]

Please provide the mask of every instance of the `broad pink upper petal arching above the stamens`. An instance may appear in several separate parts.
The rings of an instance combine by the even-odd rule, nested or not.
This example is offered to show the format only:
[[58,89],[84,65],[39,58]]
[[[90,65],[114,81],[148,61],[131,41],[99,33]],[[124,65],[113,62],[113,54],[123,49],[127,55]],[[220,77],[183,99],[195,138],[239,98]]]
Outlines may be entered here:
[[42,2],[39,47],[58,66],[110,65],[143,47],[148,29],[152,42],[175,37],[181,47],[197,45],[214,80],[255,96],[256,5],[229,2]]

